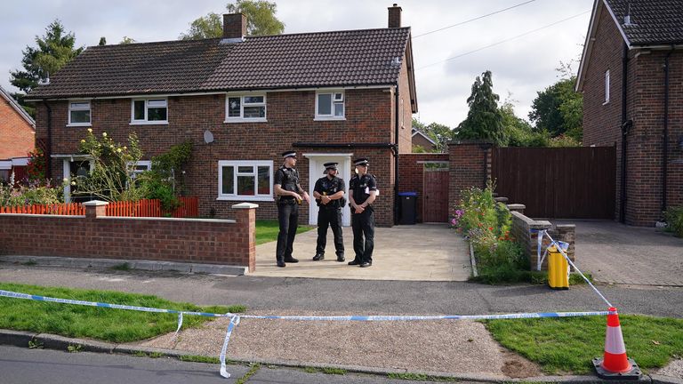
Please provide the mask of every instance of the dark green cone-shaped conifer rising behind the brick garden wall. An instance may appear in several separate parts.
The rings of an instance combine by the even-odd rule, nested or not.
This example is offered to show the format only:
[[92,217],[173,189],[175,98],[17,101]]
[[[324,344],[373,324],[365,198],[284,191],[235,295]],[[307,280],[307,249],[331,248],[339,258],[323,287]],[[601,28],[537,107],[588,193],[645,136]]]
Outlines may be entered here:
[[494,93],[491,71],[477,76],[472,84],[472,93],[467,99],[470,111],[467,118],[458,125],[457,138],[464,140],[491,140],[504,145],[502,115],[498,108],[500,98]]

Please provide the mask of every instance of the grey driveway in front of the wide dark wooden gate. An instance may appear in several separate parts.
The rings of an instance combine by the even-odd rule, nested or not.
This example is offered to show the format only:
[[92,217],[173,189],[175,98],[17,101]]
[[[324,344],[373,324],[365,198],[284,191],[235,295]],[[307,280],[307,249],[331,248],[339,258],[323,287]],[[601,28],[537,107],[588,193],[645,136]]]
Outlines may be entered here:
[[683,239],[614,221],[576,224],[577,267],[607,284],[683,286]]

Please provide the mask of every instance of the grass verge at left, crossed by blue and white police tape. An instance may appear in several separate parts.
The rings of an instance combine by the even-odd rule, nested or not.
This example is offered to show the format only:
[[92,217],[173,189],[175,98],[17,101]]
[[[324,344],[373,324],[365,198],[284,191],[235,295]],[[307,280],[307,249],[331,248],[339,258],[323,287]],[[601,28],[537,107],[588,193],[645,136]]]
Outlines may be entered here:
[[[166,308],[213,313],[244,312],[245,306],[199,307],[157,296],[136,293],[42,287],[0,283],[0,290],[23,292],[61,299],[98,301],[138,307]],[[184,316],[183,327],[197,327],[213,318]],[[175,331],[178,316],[133,310],[97,308],[43,301],[0,298],[0,328],[16,331],[45,332],[73,338],[112,342],[146,340]]]

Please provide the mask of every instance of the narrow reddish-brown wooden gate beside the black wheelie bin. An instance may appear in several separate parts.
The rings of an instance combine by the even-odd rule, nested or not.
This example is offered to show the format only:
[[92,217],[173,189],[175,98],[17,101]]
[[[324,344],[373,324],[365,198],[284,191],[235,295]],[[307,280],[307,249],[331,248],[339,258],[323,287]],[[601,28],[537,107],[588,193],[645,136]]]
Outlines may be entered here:
[[448,168],[424,169],[422,222],[448,221]]

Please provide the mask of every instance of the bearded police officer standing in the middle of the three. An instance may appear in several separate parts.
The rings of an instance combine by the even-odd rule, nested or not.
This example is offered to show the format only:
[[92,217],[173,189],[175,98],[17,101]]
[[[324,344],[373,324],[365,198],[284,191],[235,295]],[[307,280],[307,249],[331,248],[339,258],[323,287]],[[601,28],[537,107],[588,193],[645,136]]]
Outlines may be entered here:
[[344,199],[344,180],[338,178],[338,163],[325,163],[326,176],[316,181],[313,197],[317,206],[317,247],[314,261],[325,259],[325,244],[327,244],[327,227],[332,227],[334,234],[334,250],[337,261],[344,260],[344,240],[342,238],[342,204]]

